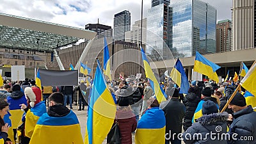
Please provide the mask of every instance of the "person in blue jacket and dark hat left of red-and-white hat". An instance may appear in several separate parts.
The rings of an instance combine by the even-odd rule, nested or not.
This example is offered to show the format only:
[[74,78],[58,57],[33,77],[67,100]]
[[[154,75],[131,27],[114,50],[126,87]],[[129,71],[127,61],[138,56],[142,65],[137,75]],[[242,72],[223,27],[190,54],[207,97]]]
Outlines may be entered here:
[[[9,103],[13,134],[16,136],[17,127],[19,126],[20,118],[23,115],[23,111],[20,111],[20,104],[27,104],[27,99],[24,93],[20,91],[19,84],[13,85],[12,93],[7,97],[7,102]],[[16,140],[16,138],[14,138],[14,140]]]

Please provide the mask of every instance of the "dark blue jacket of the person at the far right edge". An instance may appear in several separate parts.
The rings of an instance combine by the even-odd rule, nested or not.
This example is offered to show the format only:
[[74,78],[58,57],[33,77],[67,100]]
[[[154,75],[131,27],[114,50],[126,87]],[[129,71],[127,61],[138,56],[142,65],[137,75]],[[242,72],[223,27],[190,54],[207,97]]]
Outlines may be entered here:
[[[237,140],[230,140],[228,141],[228,144],[237,144],[241,143],[239,140],[241,140],[241,136],[250,136],[250,138],[253,138],[253,140],[250,141],[244,141],[245,138],[243,138],[243,144],[255,144],[256,143],[256,112],[253,111],[252,106],[248,106],[245,109],[242,109],[241,111],[237,111],[233,115],[233,122],[230,125],[230,129],[228,131],[229,134],[238,134],[236,136]],[[232,135],[230,135],[230,138],[232,138]]]

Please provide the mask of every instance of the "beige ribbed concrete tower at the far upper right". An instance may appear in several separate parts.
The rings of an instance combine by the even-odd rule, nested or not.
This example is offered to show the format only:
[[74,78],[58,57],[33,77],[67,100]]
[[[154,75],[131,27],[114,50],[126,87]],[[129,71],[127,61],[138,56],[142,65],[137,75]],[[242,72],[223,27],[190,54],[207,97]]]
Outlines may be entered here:
[[233,0],[232,51],[256,47],[255,0]]

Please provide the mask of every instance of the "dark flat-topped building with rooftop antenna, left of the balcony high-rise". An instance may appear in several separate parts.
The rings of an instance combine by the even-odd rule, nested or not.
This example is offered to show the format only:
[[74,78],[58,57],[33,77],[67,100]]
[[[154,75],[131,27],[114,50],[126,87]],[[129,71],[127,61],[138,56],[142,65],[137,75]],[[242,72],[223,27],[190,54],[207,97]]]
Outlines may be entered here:
[[[98,35],[102,34],[105,36],[113,36],[111,26],[106,26],[104,24],[86,24],[85,29],[95,31]],[[104,33],[103,33],[104,32]]]

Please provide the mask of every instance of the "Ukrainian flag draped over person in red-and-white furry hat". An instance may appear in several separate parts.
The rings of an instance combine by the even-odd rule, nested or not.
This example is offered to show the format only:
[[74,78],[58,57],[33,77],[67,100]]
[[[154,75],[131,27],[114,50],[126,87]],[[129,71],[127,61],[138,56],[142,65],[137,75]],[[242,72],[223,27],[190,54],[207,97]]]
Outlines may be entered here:
[[25,136],[28,138],[32,137],[36,122],[44,113],[46,113],[46,106],[44,101],[37,103],[35,107],[27,111],[25,120]]

